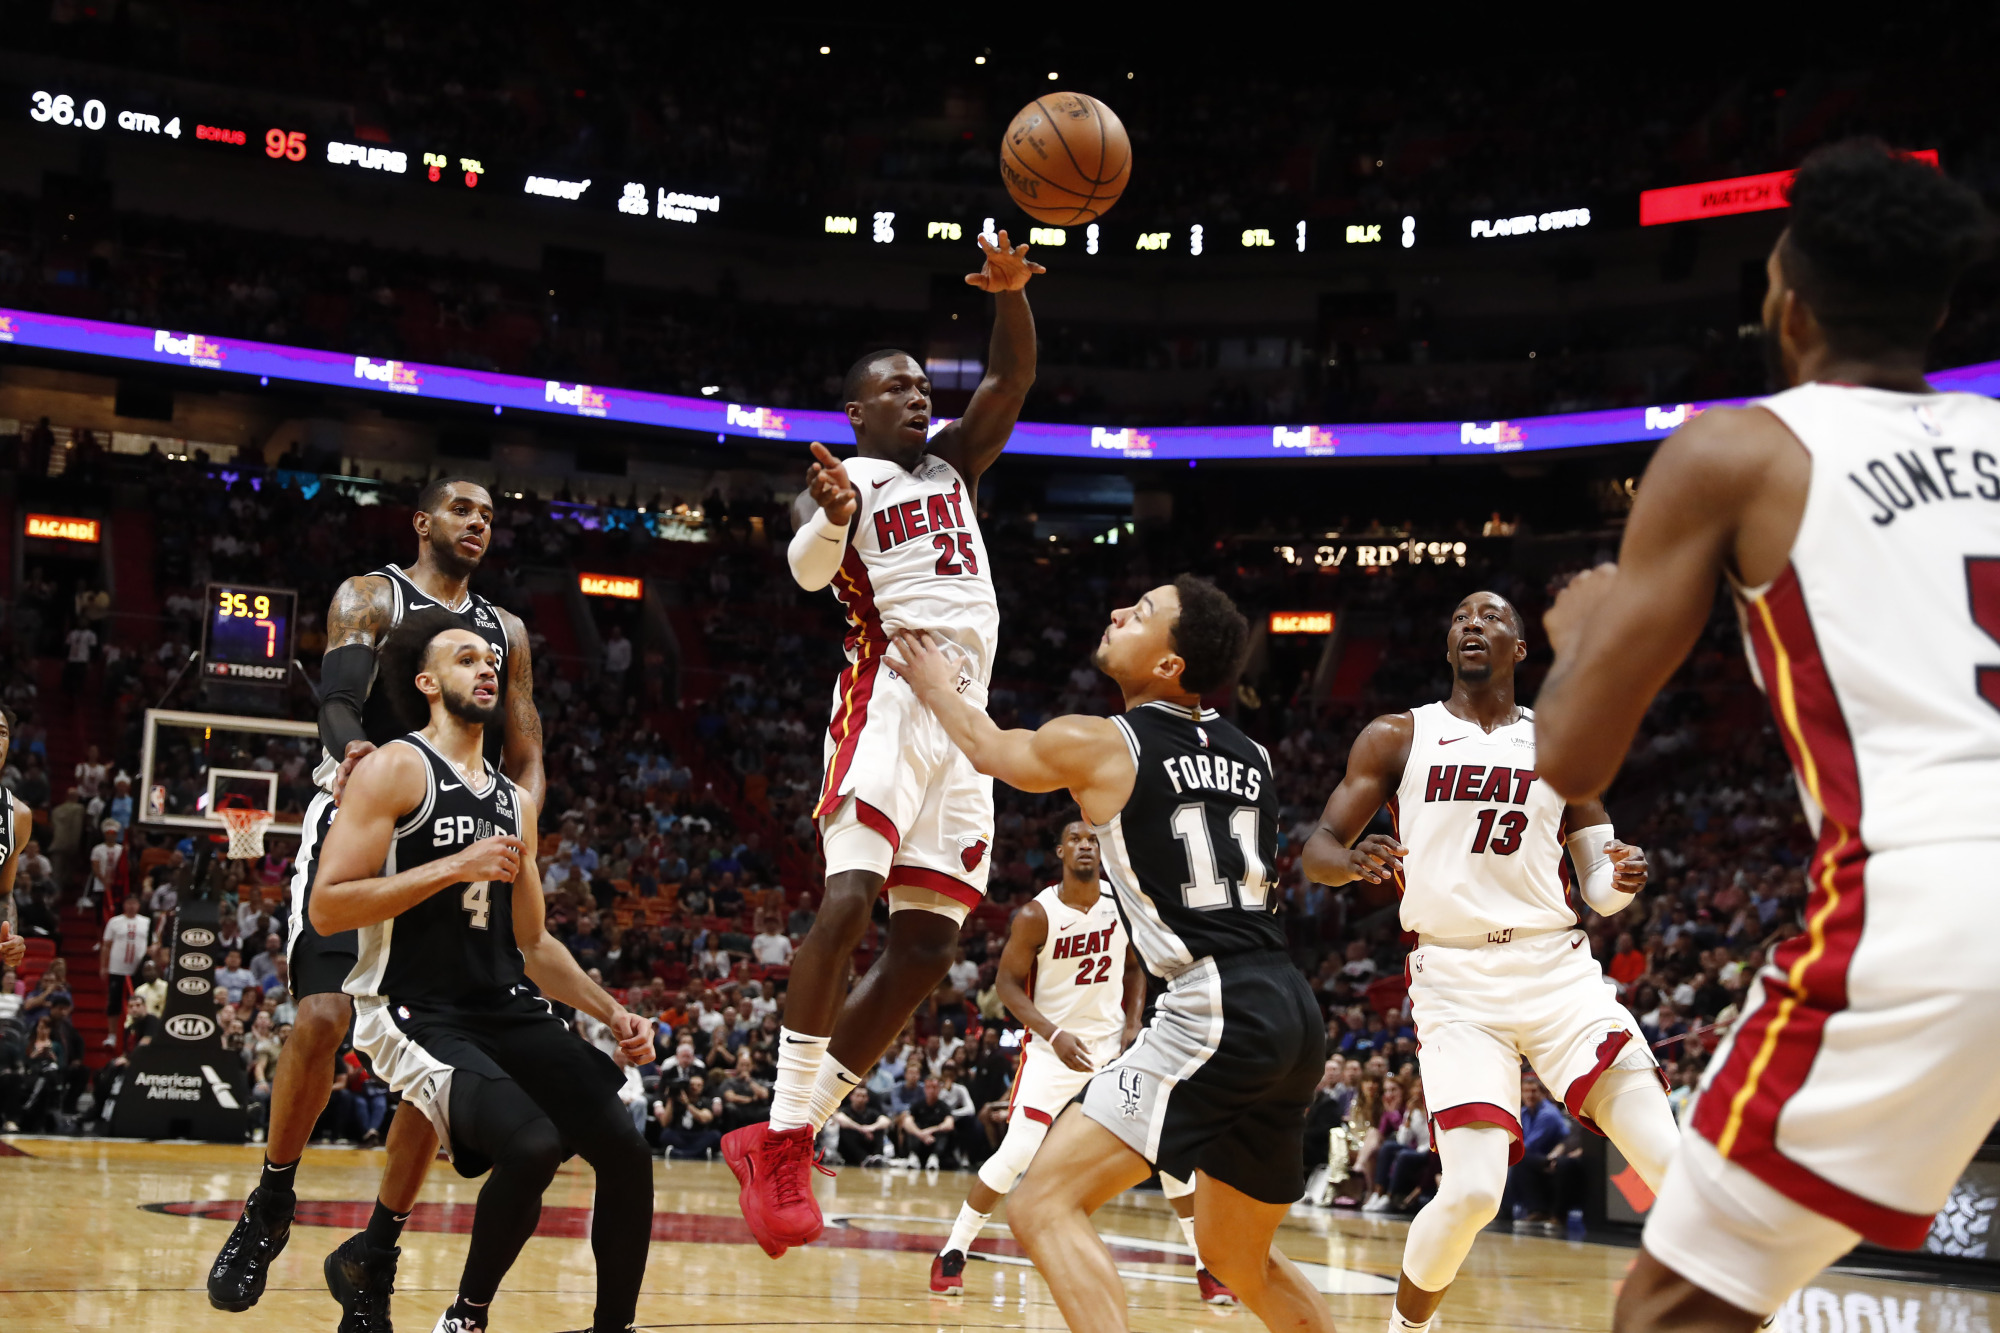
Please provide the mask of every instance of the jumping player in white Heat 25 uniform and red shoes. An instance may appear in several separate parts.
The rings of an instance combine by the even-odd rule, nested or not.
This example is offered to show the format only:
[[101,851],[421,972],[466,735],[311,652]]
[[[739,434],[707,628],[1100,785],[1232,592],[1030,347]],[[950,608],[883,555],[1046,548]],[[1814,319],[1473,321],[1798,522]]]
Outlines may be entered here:
[[[856,458],[818,462],[792,506],[798,586],[832,584],[848,612],[848,669],[834,683],[826,781],[814,817],[826,895],[792,959],[770,1121],[730,1133],[722,1157],[764,1253],[820,1235],[812,1141],[952,965],[958,927],[986,895],[992,781],[952,749],[910,687],[882,671],[888,634],[932,628],[952,644],[960,689],[986,701],[1000,606],[980,536],[980,474],[1000,456],[1034,382],[1028,246],[980,236],[966,282],[994,294],[986,378],[966,414],[932,434],[930,378],[908,352],[848,370]],[[888,891],[888,947],[842,1005],[848,959]],[[838,1021],[838,1025],[836,1025]]]

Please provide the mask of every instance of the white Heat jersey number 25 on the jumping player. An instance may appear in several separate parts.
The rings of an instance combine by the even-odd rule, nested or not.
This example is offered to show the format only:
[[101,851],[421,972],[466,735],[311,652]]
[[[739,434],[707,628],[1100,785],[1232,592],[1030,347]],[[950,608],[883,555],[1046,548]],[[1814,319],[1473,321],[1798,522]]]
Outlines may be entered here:
[[1000,602],[972,488],[936,454],[924,454],[914,472],[886,458],[848,458],[848,478],[860,508],[832,584],[848,608],[848,656],[880,652],[888,634],[920,628],[954,644],[986,685],[1000,646]]

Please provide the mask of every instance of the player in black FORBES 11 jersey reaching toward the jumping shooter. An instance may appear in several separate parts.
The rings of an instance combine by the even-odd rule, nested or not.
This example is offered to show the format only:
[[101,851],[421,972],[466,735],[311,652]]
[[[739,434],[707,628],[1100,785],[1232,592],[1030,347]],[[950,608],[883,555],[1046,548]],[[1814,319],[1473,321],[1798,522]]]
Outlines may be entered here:
[[1326,1067],[1320,1005],[1284,953],[1266,881],[1276,783],[1264,747],[1202,707],[1246,640],[1236,604],[1184,574],[1104,630],[1094,660],[1124,715],[1040,731],[994,727],[930,634],[896,640],[892,664],[980,773],[1076,797],[1132,947],[1166,981],[1152,1023],[1062,1111],[1008,1209],[1072,1329],[1126,1327],[1090,1215],[1154,1169],[1194,1181],[1200,1253],[1266,1327],[1334,1327],[1272,1247],[1306,1191],[1306,1109]]

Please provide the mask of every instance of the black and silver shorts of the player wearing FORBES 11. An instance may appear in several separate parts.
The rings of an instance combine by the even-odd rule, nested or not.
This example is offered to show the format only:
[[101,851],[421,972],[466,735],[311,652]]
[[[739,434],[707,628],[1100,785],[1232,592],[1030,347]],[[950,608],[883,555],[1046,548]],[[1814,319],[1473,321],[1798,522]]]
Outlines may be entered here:
[[1306,1111],[1326,1023],[1278,951],[1202,959],[1152,1023],[1084,1085],[1082,1109],[1162,1175],[1206,1171],[1260,1203],[1306,1193]]

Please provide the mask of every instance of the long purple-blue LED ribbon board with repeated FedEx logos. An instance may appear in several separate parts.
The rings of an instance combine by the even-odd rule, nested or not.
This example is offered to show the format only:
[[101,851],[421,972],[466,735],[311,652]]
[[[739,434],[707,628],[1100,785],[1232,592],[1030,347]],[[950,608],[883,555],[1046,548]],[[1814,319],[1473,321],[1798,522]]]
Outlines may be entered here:
[[[768,408],[720,398],[682,398],[604,384],[532,380],[520,374],[432,366],[406,360],[348,356],[248,338],[216,338],[172,328],[108,324],[62,314],[0,308],[0,344],[76,352],[116,362],[184,366],[220,374],[258,376],[260,382],[292,380],[328,388],[392,392],[438,402],[508,408],[556,416],[588,416],[628,426],[712,432],[728,438],[846,444],[854,438],[844,412]],[[1940,370],[1930,376],[1938,388],[2000,396],[2000,360]],[[1424,458],[1492,456],[1540,448],[1584,448],[1590,444],[1632,444],[1658,440],[1688,418],[1712,406],[1736,406],[1744,398],[1716,402],[1668,402],[1610,408],[1604,412],[1564,412],[1514,420],[1406,420],[1364,424],[1298,426],[1064,426],[1024,420],[1014,428],[1008,450],[1064,458],[1160,458],[1160,460],[1246,460],[1246,458]],[[944,420],[932,420],[932,430]]]

